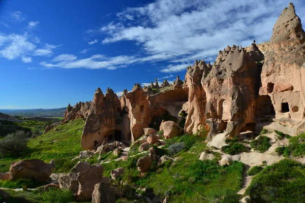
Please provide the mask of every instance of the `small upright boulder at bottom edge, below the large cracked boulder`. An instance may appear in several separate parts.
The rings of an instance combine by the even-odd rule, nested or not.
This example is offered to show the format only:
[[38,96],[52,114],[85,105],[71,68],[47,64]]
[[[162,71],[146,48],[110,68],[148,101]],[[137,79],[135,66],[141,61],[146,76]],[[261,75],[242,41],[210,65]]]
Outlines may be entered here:
[[105,183],[98,183],[94,186],[92,203],[115,203],[115,196],[111,188]]

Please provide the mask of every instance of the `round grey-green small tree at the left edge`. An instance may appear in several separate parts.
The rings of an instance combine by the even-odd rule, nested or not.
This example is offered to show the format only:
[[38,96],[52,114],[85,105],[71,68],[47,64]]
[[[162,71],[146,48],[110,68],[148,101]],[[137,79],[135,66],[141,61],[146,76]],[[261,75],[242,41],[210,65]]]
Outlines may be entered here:
[[0,154],[2,156],[17,155],[27,148],[28,134],[18,130],[8,134],[0,140]]

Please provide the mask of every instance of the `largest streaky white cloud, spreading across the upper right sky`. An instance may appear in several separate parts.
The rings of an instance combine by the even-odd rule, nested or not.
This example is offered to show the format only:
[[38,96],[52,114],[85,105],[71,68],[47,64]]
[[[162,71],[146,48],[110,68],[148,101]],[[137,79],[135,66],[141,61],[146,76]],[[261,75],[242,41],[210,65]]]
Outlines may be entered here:
[[[294,2],[302,14],[303,1]],[[108,35],[102,43],[133,41],[145,51],[139,61],[167,60],[164,73],[185,71],[195,59],[214,61],[229,45],[249,46],[270,39],[272,27],[287,0],[157,0],[118,13],[118,20],[90,30]],[[301,16],[302,17],[302,16]],[[130,18],[130,19],[129,19]],[[126,19],[132,21],[126,21]]]

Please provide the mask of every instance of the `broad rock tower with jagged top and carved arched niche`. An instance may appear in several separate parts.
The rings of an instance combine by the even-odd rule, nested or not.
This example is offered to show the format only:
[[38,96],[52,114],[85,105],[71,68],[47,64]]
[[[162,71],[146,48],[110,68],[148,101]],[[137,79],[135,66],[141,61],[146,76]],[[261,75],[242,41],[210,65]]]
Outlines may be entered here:
[[211,71],[201,80],[206,92],[209,136],[224,131],[233,137],[246,125],[256,122],[258,78],[256,62],[245,49],[227,46],[220,51]]

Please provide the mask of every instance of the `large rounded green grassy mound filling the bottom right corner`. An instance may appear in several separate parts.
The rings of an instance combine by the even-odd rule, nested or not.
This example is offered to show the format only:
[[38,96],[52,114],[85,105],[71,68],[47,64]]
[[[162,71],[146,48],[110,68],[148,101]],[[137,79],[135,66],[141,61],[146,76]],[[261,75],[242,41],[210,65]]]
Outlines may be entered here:
[[266,166],[246,190],[255,202],[304,202],[305,165],[291,159]]

